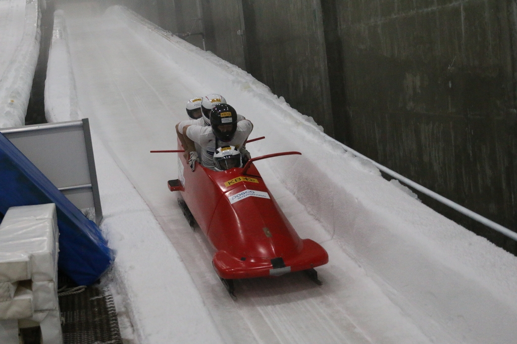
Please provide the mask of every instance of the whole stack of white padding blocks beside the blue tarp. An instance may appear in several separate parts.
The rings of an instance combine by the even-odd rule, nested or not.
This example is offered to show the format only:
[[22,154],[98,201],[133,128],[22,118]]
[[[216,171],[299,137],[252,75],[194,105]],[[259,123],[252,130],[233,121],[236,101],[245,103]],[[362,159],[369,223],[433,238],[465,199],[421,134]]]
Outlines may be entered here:
[[[0,342],[39,326],[42,343],[63,343],[57,299],[59,252],[54,204],[12,207],[0,224]],[[16,334],[16,336],[15,336]]]

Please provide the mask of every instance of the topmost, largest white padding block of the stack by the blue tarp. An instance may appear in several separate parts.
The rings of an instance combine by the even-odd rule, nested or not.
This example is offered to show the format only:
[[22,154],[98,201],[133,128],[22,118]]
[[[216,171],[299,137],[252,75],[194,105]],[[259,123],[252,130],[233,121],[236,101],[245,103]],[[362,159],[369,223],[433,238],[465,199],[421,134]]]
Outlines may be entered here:
[[53,280],[57,270],[57,235],[54,204],[11,207],[0,224],[0,252],[30,254],[32,280]]

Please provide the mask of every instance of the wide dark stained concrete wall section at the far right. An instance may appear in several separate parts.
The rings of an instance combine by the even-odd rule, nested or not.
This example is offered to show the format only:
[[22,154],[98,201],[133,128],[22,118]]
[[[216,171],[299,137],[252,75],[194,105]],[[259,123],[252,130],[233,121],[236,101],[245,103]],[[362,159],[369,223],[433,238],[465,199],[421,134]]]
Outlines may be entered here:
[[516,229],[515,22],[507,2],[346,0],[336,7],[348,144]]

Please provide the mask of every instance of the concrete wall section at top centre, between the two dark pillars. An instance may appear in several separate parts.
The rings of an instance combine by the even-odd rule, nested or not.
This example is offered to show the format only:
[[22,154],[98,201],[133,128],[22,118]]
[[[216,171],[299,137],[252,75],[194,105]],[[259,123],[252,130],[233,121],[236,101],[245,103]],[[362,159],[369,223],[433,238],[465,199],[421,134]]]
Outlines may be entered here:
[[248,72],[333,136],[319,0],[242,0]]

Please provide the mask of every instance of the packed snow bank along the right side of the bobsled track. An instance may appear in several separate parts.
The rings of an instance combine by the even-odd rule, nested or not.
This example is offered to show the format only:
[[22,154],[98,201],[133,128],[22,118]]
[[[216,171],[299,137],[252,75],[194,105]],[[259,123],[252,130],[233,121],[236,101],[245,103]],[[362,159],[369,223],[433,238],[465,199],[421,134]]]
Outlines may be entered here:
[[[420,320],[424,332],[439,328],[472,343],[506,343],[517,335],[511,325],[517,321],[517,258],[425,207],[398,182],[384,180],[371,162],[348,153],[250,74],[122,7],[107,15],[126,22],[151,49],[207,87],[238,93],[226,100],[254,123],[253,137],[266,136],[249,145],[253,155],[278,146],[302,152],[263,163],[401,310]],[[290,130],[279,131],[278,122]],[[300,138],[302,147],[293,144]]]

